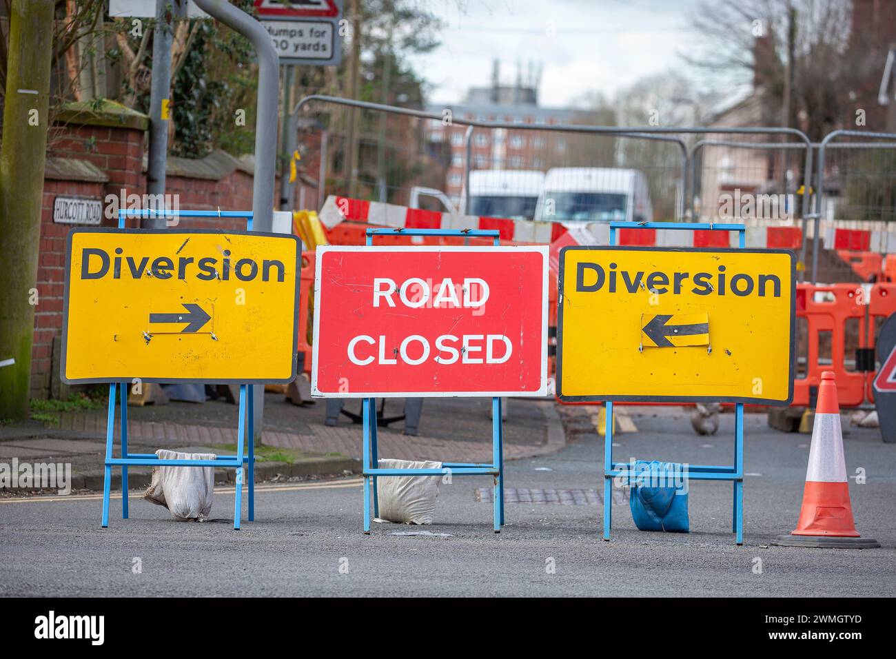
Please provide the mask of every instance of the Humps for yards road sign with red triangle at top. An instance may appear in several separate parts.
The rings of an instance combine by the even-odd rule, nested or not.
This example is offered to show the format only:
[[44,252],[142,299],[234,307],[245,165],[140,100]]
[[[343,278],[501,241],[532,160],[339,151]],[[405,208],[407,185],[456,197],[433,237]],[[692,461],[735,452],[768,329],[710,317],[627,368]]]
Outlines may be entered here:
[[255,0],[280,64],[336,66],[342,61],[341,0]]

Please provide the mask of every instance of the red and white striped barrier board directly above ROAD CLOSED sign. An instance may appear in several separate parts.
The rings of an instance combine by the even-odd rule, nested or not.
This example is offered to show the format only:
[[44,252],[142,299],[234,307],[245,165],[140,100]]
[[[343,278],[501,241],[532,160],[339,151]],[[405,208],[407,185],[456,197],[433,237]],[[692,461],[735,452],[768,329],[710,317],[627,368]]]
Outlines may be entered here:
[[450,212],[424,211],[396,204],[367,202],[330,195],[318,217],[327,229],[341,221],[357,221],[396,229],[496,229],[504,240],[547,244],[554,229],[552,222],[507,220]]

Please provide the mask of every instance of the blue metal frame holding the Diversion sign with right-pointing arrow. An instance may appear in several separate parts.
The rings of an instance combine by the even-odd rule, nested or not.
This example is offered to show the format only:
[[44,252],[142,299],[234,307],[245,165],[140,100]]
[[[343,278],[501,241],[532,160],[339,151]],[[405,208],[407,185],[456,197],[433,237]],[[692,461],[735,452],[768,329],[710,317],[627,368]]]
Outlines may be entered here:
[[[118,211],[118,229],[125,229],[125,219],[128,217],[149,218],[149,217],[216,217],[216,218],[238,218],[246,220],[246,230],[252,230],[252,212],[238,211],[152,211],[152,210],[134,210],[134,211]],[[127,468],[129,466],[151,466],[151,467],[228,467],[237,470],[236,488],[233,506],[233,527],[239,530],[240,517],[242,516],[243,507],[243,465],[246,464],[247,481],[248,481],[248,521],[252,522],[255,518],[255,447],[254,447],[254,392],[251,385],[239,386],[239,423],[237,427],[237,455],[228,455],[217,457],[214,460],[162,460],[154,453],[128,453],[127,450],[127,387],[129,383],[122,382],[121,401],[120,401],[120,420],[119,427],[121,429],[121,457],[113,457],[113,438],[115,437],[116,428],[116,390],[119,383],[113,382],[109,385],[109,401],[108,401],[108,418],[106,421],[106,460],[105,460],[105,478],[103,482],[103,528],[108,528],[109,524],[109,494],[112,487],[112,467],[121,467],[121,516],[127,519]],[[247,455],[243,451],[248,448]]]

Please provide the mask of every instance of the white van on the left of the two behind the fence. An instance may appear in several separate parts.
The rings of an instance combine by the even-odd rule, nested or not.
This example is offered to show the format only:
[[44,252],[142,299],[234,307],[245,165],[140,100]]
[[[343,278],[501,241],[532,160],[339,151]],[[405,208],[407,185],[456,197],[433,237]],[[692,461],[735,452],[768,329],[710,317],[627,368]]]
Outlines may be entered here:
[[[461,212],[468,215],[531,220],[545,174],[527,169],[478,169],[470,172],[470,190],[461,198]],[[470,207],[465,206],[470,195]]]

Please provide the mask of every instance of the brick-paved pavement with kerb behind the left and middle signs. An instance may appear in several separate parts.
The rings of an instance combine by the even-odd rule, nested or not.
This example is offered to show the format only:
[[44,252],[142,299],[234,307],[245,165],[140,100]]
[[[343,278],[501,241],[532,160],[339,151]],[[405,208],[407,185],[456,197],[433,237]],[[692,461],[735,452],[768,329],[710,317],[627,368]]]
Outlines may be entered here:
[[[352,411],[354,405],[348,403]],[[491,460],[490,399],[444,398],[424,403],[420,435],[402,434],[402,421],[378,433],[381,457],[402,460],[482,462]],[[387,415],[401,414],[401,401],[389,400]],[[357,411],[357,410],[355,410]],[[282,395],[265,396],[263,445],[297,449],[301,455],[341,455],[360,459],[361,426],[342,416],[340,425],[323,425],[323,403],[296,406]],[[75,487],[99,488],[106,453],[106,411],[71,412],[61,415],[59,427],[46,429],[34,423],[0,428],[0,462],[12,458],[71,463]],[[553,453],[563,447],[563,429],[554,405],[544,401],[511,399],[505,422],[504,455],[514,459]],[[116,455],[120,433],[116,426]],[[154,453],[158,448],[184,449],[237,443],[237,407],[223,401],[169,403],[128,408],[128,441],[131,453]],[[340,473],[344,462],[333,463]],[[327,471],[322,466],[323,473]],[[271,470],[267,470],[271,471]],[[146,481],[147,468],[131,473]],[[271,472],[273,473],[273,472]],[[262,474],[263,476],[264,474]],[[116,470],[117,482],[117,470]]]

